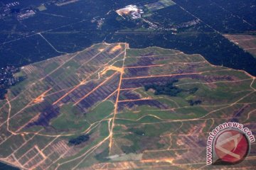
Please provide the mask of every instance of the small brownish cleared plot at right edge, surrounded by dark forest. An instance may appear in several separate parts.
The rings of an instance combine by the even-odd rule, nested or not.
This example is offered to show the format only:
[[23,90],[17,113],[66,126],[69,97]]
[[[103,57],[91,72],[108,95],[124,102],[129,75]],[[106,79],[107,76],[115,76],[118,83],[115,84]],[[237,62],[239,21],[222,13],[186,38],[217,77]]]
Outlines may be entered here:
[[255,35],[224,35],[231,42],[242,47],[256,57],[256,37]]

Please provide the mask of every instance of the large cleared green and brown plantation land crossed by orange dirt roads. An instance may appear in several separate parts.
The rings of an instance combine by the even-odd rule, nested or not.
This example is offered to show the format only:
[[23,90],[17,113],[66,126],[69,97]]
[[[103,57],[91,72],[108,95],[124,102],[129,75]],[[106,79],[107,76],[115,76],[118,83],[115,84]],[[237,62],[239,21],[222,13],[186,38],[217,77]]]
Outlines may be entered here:
[[100,43],[21,74],[0,103],[0,160],[21,169],[213,169],[208,132],[255,132],[255,77],[201,55]]

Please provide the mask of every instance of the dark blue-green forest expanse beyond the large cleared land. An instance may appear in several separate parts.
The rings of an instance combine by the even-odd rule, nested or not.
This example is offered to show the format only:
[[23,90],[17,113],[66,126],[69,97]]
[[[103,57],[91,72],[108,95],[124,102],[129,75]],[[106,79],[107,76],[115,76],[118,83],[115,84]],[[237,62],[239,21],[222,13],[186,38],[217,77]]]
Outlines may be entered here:
[[[176,0],[176,5],[150,11],[145,5],[156,0],[96,0],[65,6],[46,4],[46,11],[38,11],[36,7],[42,2],[46,1],[26,0],[16,7],[33,8],[33,17],[17,21],[14,13],[10,18],[0,19],[0,66],[23,66],[104,40],[129,42],[130,47],[136,48],[159,46],[198,53],[212,64],[256,75],[256,59],[222,35],[255,30],[255,1]],[[142,8],[143,18],[155,26],[150,28],[142,19],[127,20],[114,12],[129,4]],[[99,21],[104,21],[100,27]]]

